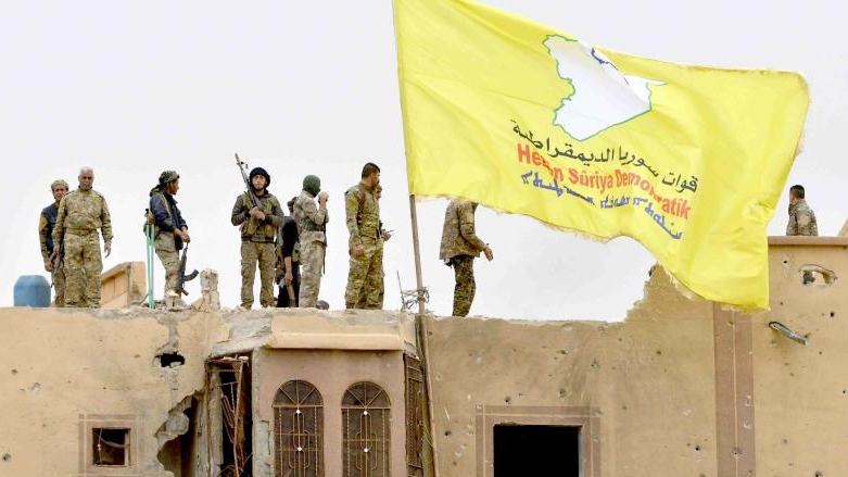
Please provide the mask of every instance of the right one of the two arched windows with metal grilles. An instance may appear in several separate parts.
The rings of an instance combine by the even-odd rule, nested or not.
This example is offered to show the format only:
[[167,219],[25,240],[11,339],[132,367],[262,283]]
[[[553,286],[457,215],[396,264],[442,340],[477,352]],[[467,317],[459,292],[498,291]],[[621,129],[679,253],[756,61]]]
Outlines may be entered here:
[[357,382],[342,398],[342,475],[391,475],[389,396],[374,382]]

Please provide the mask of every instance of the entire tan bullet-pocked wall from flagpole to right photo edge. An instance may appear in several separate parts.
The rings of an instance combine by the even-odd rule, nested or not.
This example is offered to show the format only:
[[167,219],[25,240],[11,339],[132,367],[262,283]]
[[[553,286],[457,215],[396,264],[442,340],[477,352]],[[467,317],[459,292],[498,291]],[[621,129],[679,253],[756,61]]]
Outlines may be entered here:
[[844,475],[848,239],[770,243],[768,313],[689,301],[655,268],[624,323],[427,318],[438,475],[492,476],[497,424],[581,426],[591,477]]

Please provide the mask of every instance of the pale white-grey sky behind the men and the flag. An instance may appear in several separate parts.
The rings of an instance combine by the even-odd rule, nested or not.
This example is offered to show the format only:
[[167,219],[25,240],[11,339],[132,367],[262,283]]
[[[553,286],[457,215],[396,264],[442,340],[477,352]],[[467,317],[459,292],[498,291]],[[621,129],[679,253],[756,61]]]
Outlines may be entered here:
[[[436,1],[436,0],[432,0]],[[845,222],[848,7],[812,0],[484,0],[583,41],[680,63],[801,72],[812,102],[789,185],[807,188],[821,235]],[[20,1],[0,8],[0,306],[21,275],[43,272],[37,225],[50,183],[76,188],[79,167],[112,211],[104,271],[144,261],[142,213],[163,170],[181,175],[179,206],[192,236],[189,268],[220,274],[222,304],[239,304],[239,233],[229,214],[242,183],[233,152],[271,175],[286,202],[303,176],[330,194],[320,298],[344,306],[343,191],[362,165],[382,168],[385,309],[400,307],[397,275],[415,287],[390,0]],[[520,65],[517,65],[520,67]],[[428,309],[451,312],[453,272],[438,260],[445,200],[418,204]],[[782,235],[782,197],[769,234]],[[623,319],[643,296],[651,255],[630,238],[600,244],[521,216],[477,212],[495,260],[476,262],[472,315]],[[164,272],[156,263],[156,297]],[[188,301],[200,294],[187,285]],[[276,293],[276,288],[275,288]],[[258,296],[258,279],[256,284]],[[258,297],[256,299],[258,303]],[[254,305],[255,306],[255,305]]]

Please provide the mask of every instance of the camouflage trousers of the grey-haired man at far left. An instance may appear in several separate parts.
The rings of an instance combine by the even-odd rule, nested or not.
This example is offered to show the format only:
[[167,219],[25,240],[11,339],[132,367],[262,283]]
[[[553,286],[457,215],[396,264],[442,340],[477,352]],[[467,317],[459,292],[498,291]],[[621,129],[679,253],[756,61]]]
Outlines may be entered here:
[[100,307],[100,236],[65,234],[65,306]]

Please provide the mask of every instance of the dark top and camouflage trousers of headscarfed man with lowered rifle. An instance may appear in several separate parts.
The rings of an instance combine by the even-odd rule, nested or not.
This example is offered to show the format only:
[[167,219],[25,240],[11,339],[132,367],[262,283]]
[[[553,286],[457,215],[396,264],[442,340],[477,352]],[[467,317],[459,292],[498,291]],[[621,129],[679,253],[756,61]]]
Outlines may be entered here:
[[179,278],[179,251],[182,240],[174,236],[175,229],[188,228],[182,213],[177,208],[174,196],[163,192],[159,187],[150,191],[150,212],[153,215],[153,248],[165,268],[165,294],[176,292]]

